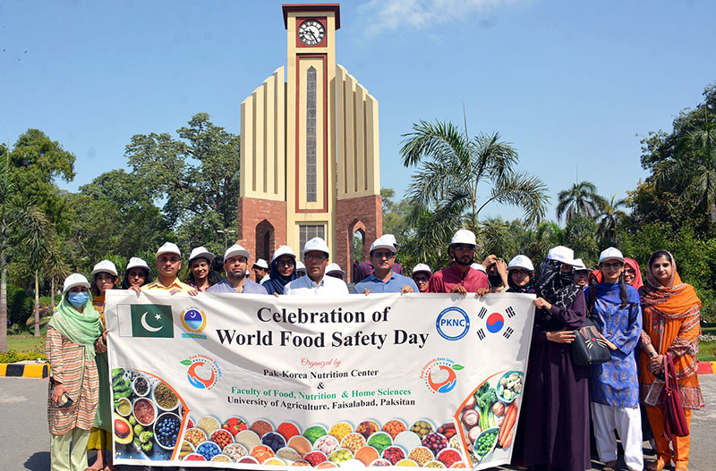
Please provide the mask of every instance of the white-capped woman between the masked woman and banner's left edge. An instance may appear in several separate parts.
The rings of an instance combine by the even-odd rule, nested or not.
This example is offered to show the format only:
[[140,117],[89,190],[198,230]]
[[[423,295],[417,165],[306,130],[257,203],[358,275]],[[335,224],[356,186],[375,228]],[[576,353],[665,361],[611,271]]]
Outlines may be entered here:
[[[99,313],[102,321],[102,330],[107,330],[105,320],[105,294],[107,290],[115,290],[117,284],[117,269],[115,264],[109,260],[102,260],[92,269],[92,305]],[[97,459],[89,469],[113,469],[112,468],[112,407],[110,406],[109,391],[109,363],[107,352],[98,352],[95,356],[97,371],[99,375],[99,402],[95,424],[90,433],[88,450],[97,450]],[[107,456],[105,456],[107,451]]]

